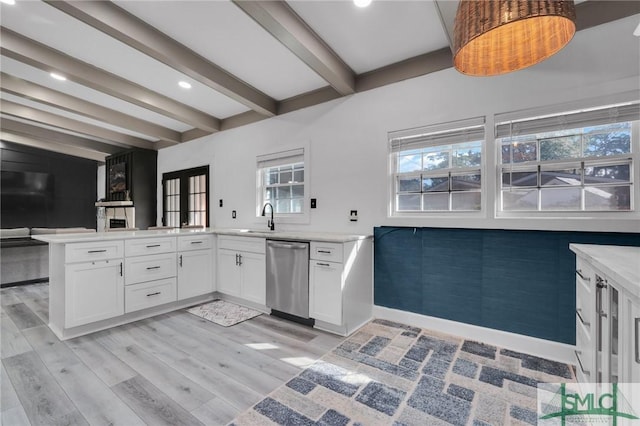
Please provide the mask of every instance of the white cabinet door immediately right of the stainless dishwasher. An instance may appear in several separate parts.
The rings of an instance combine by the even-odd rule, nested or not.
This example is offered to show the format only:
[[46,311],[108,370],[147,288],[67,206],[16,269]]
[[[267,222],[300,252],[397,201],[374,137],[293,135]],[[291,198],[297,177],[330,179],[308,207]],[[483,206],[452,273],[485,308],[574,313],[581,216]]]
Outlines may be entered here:
[[309,316],[342,325],[342,263],[309,262]]

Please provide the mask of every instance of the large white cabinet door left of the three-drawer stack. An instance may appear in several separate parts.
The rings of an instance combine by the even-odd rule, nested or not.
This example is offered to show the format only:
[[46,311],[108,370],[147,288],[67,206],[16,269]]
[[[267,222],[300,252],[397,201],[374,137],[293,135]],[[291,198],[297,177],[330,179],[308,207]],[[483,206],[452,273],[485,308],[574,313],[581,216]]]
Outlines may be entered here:
[[124,314],[122,260],[65,265],[65,327]]

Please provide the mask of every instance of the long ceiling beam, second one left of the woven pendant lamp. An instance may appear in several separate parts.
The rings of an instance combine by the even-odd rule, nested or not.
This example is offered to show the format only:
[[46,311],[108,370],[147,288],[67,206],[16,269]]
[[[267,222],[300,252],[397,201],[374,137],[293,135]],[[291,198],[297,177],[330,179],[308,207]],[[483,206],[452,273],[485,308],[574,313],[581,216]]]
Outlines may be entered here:
[[276,113],[274,99],[112,2],[45,2],[260,114]]

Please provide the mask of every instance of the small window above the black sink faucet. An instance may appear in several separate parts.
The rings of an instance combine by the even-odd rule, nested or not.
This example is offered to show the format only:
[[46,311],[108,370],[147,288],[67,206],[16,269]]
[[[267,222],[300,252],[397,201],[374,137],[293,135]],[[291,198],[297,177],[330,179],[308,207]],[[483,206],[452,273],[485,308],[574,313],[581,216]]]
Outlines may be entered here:
[[259,209],[271,203],[279,215],[304,213],[304,149],[259,156],[257,169]]

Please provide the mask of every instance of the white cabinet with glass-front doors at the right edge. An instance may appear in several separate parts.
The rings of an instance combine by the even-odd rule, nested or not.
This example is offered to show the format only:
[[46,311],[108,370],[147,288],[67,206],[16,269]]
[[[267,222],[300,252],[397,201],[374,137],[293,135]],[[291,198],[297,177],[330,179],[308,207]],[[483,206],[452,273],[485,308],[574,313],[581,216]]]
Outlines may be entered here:
[[571,250],[578,382],[638,383],[640,248],[571,244]]

